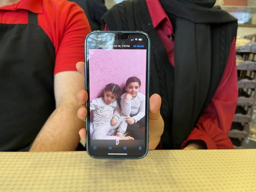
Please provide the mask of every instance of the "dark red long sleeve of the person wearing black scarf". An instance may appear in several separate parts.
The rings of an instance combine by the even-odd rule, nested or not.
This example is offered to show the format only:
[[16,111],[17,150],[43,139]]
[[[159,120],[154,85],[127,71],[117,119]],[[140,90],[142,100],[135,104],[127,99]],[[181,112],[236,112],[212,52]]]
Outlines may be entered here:
[[238,97],[235,38],[232,42],[221,82],[203,115],[181,145],[203,140],[207,149],[234,149],[228,138]]

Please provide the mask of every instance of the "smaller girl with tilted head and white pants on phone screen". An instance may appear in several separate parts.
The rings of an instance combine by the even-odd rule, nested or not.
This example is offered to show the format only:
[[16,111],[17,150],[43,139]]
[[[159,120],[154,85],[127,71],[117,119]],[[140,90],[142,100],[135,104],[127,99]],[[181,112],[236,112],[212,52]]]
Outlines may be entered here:
[[[120,97],[121,89],[116,84],[106,85],[99,98],[93,99],[90,103],[90,111],[93,111],[94,134],[93,139],[130,139],[124,137],[127,128],[125,116],[120,115],[120,108],[117,100]],[[107,133],[117,129],[116,136],[107,136]]]

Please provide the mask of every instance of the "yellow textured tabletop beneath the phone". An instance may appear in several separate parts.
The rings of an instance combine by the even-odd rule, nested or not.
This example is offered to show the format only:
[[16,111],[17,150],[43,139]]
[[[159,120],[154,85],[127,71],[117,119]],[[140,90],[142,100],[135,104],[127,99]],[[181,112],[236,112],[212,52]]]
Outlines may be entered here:
[[155,150],[141,160],[3,152],[0,191],[255,192],[256,149]]

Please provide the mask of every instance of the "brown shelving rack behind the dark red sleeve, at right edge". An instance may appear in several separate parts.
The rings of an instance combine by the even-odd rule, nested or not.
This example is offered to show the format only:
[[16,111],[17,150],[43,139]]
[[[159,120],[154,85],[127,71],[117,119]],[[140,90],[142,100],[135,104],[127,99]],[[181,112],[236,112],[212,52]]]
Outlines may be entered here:
[[[255,39],[255,35],[245,38]],[[236,149],[244,149],[252,122],[253,105],[256,101],[256,44],[249,43],[236,50],[242,63],[237,63],[238,101],[229,138]]]

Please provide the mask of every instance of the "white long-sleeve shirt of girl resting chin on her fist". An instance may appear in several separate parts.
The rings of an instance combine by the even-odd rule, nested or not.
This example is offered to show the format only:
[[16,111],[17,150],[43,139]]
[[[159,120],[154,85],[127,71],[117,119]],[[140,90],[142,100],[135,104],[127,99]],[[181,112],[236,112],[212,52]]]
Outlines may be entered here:
[[127,93],[121,95],[121,108],[122,112],[125,116],[132,115],[135,119],[135,122],[139,121],[142,117],[145,116],[145,102],[146,98],[142,93],[138,93],[135,98],[132,100],[127,101],[125,96]]

